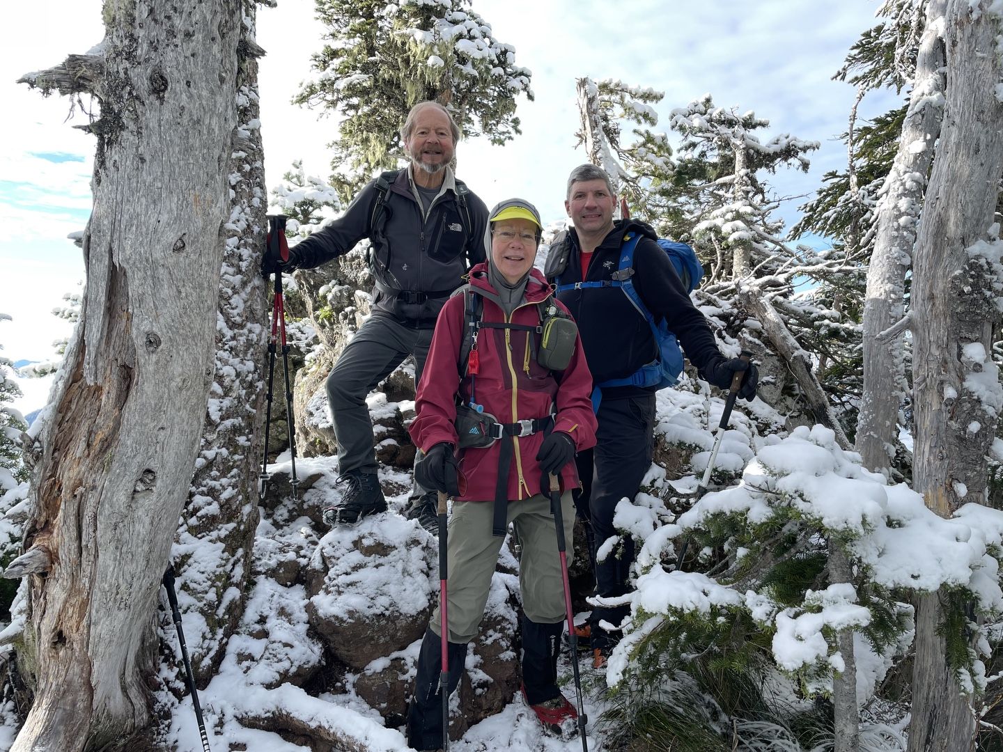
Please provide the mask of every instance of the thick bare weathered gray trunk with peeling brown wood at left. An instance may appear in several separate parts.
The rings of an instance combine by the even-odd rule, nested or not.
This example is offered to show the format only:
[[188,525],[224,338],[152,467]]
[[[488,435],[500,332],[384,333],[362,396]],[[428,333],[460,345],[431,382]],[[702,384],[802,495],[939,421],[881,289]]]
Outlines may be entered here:
[[100,51],[29,82],[100,100],[87,288],[40,436],[17,752],[96,750],[149,721],[153,609],[213,382],[240,0],[106,0]]

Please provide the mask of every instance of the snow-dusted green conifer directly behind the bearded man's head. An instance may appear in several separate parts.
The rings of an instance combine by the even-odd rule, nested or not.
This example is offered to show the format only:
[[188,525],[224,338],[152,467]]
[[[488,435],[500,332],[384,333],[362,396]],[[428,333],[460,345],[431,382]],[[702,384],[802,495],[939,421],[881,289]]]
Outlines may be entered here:
[[517,97],[533,99],[531,73],[496,39],[470,0],[319,0],[328,43],[313,56],[317,77],[295,101],[339,118],[332,169],[348,175],[348,201],[377,169],[400,156],[408,109],[434,99],[466,135],[504,143],[520,133]]

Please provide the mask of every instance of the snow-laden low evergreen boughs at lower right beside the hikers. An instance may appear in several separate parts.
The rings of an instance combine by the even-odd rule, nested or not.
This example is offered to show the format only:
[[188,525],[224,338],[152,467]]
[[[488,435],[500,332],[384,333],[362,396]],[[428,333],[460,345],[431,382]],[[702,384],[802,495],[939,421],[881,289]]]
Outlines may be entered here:
[[[911,593],[946,587],[982,614],[1003,610],[1003,511],[969,503],[945,519],[905,483],[889,485],[865,468],[820,425],[768,439],[737,485],[706,494],[671,523],[633,531],[639,576],[610,660],[611,686],[637,670],[642,654],[685,666],[700,651],[720,654],[732,631],[750,630],[769,639],[778,669],[825,693],[845,668],[837,636],[853,630],[866,637],[855,652],[870,666],[870,695],[889,659],[908,647]],[[684,535],[723,551],[721,565],[706,574],[670,567]],[[830,544],[849,556],[853,582],[832,581]],[[783,573],[800,586],[780,585]],[[979,662],[968,661],[954,668],[980,681]]]

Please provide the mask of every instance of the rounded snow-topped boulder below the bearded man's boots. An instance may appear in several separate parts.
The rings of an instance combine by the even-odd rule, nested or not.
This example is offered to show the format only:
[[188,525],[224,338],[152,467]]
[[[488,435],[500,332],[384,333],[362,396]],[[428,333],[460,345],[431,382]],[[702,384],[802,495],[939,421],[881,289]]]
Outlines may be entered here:
[[392,512],[321,539],[306,573],[307,612],[338,660],[364,669],[421,638],[438,590],[433,544]]

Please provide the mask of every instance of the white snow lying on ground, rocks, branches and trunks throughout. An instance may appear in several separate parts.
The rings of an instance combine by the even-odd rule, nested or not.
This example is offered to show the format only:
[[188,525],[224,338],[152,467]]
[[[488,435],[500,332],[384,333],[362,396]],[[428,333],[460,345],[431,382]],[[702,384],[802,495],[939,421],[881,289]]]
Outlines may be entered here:
[[[400,5],[414,3],[450,7],[445,0],[412,0]],[[1003,0],[993,0],[991,10],[998,13],[1001,5]],[[385,15],[392,18],[396,10],[397,6],[387,6]],[[498,65],[505,60],[512,61],[512,49],[491,40],[490,27],[480,23],[473,14],[447,14],[432,32],[409,29],[407,33],[424,44],[451,41],[456,51],[469,58],[469,63],[463,68],[468,74],[475,74],[475,65],[486,61],[492,65],[489,68],[492,75],[501,75],[504,69]],[[428,54],[425,59],[430,67],[444,64],[442,58],[435,54]],[[365,76],[356,79],[346,77],[339,81],[339,85],[356,84],[360,78]],[[640,119],[655,116],[655,110],[643,100],[644,96],[654,93],[652,90],[627,87],[619,81],[606,83],[623,87],[631,96],[639,97],[617,100],[617,104],[632,116]],[[528,79],[516,76],[506,85],[528,90]],[[996,91],[997,96],[1003,99],[1003,84],[997,86]],[[938,97],[942,102],[939,92],[929,98],[936,103]],[[256,99],[256,92],[245,91],[239,94],[238,101],[246,104]],[[709,96],[706,101],[709,103]],[[736,110],[693,102],[689,107],[673,110],[672,115],[673,122],[681,127],[708,130],[716,127],[722,134],[740,138],[761,154],[779,153],[792,147],[810,150],[818,146],[817,142],[804,141],[786,133],[760,140],[737,124],[739,117],[754,118],[751,111],[738,115]],[[768,124],[767,121],[761,122]],[[251,118],[243,123],[239,132],[246,137],[260,124],[257,118]],[[657,135],[664,140],[664,134]],[[691,144],[694,142],[690,141]],[[922,140],[914,141],[909,144],[909,150],[919,153],[927,145]],[[235,158],[242,155],[246,154],[239,152]],[[604,153],[604,158],[611,164],[615,163],[608,151]],[[794,158],[806,166],[803,155],[798,154]],[[335,198],[333,189],[325,180],[302,174],[300,177],[300,184],[290,182],[280,189],[279,196],[285,206],[305,199],[323,203]],[[233,185],[238,186],[241,180],[239,172],[231,175]],[[918,177],[918,181],[922,181],[922,176]],[[719,187],[730,191],[732,182],[739,184],[738,180],[722,180]],[[249,203],[256,206],[254,202],[260,200],[261,197],[256,197]],[[758,223],[767,209],[766,204],[741,197],[714,212],[698,226],[697,231],[719,233],[726,243],[731,244],[765,243],[768,233],[764,233]],[[917,210],[915,203],[910,206],[900,203],[899,209],[910,215],[904,218],[903,225],[913,228]],[[238,209],[226,229],[239,233],[246,225],[247,214]],[[290,223],[291,228],[294,225]],[[237,237],[227,238],[227,244],[228,253],[244,253],[247,261],[249,252],[241,249]],[[993,241],[979,242],[969,252],[999,266],[1001,250],[1000,242]],[[247,272],[246,268],[225,266],[223,279],[237,288],[244,282],[244,272]],[[239,318],[247,305],[246,297],[235,296],[231,302],[232,315]],[[723,313],[721,309],[717,310]],[[826,316],[828,312],[818,311],[818,315]],[[223,317],[219,328],[225,337],[233,335]],[[260,338],[261,334],[260,330],[250,332],[250,336],[255,338]],[[312,335],[312,332],[306,333],[308,338]],[[989,424],[992,424],[992,419],[1003,407],[1003,390],[999,386],[996,368],[979,343],[970,343],[963,348],[963,362],[969,371],[962,387],[981,402],[990,417]],[[239,396],[233,396],[231,388],[240,381],[242,374],[250,372],[252,365],[228,359],[225,355],[218,357],[217,380],[213,384],[213,399],[208,408],[210,421],[219,424],[218,428],[228,425],[227,409],[240,401]],[[47,378],[51,383],[55,377]],[[46,391],[49,386],[42,380],[33,383],[39,388],[44,385]],[[957,390],[945,385],[944,398],[953,400],[957,397]],[[39,407],[44,404],[39,397],[33,399],[39,402]],[[367,405],[377,420],[413,410],[412,402],[389,402],[382,393],[372,395]],[[783,416],[761,400],[743,406],[745,412],[733,413],[731,428],[723,434],[715,468],[717,477],[734,484],[708,493],[675,519],[666,508],[663,496],[667,493],[692,493],[695,489],[696,475],[706,467],[709,459],[713,443],[711,430],[719,419],[722,402],[716,397],[711,399],[706,395],[678,390],[660,393],[658,406],[658,435],[670,446],[698,451],[689,456],[688,464],[682,469],[682,477],[668,478],[660,468],[649,472],[645,485],[653,492],[644,491],[635,499],[622,499],[614,518],[622,534],[603,541],[601,556],[612,553],[628,535],[641,543],[634,573],[636,587],[625,597],[631,605],[632,617],[636,619],[627,626],[626,637],[611,658],[606,676],[611,684],[621,681],[630,671],[630,649],[667,621],[683,613],[717,615],[726,619],[731,611],[739,609],[747,611],[764,629],[773,631],[772,652],[781,669],[795,672],[816,664],[834,671],[843,668],[842,656],[833,650],[830,633],[840,629],[859,630],[871,621],[871,612],[857,603],[853,586],[838,584],[819,592],[809,591],[801,606],[781,608],[766,590],[747,588],[740,592],[723,579],[669,569],[667,560],[671,559],[676,543],[683,535],[724,515],[740,516],[755,525],[768,522],[778,510],[789,512],[793,518],[806,520],[825,534],[840,533],[851,538],[848,546],[855,562],[882,587],[929,592],[947,586],[972,593],[980,609],[986,613],[1003,609],[996,558],[1003,546],[1003,513],[967,504],[951,519],[943,519],[930,511],[922,496],[908,486],[890,485],[883,476],[861,467],[860,457],[840,449],[830,430],[820,426],[800,427],[787,434],[781,430]],[[315,395],[307,412],[319,424],[330,425],[323,395]],[[981,428],[978,421],[968,425],[970,433],[977,433]],[[767,430],[776,430],[778,435],[764,435]],[[249,443],[245,437],[245,445]],[[1003,441],[994,440],[992,453],[1003,460]],[[198,459],[198,468],[206,467],[217,456],[215,450],[203,451]],[[316,505],[323,497],[336,492],[330,483],[335,474],[335,464],[329,458],[301,461],[301,474],[317,470],[324,475],[324,479],[305,494],[306,507]],[[289,463],[278,463],[270,470],[274,473],[288,472]],[[10,506],[8,515],[11,515],[24,503],[27,488],[24,484],[18,486],[14,483],[6,470],[0,472],[6,472],[0,477],[0,488],[7,489],[2,498],[5,506]],[[401,475],[408,479],[406,473]],[[208,480],[206,487],[211,486],[214,493],[197,489],[191,506],[186,510],[185,521],[195,524],[203,518],[221,514],[220,501],[236,493],[233,485],[233,478],[230,477]],[[959,496],[967,493],[967,488],[959,481],[954,482],[954,487]],[[15,492],[20,494],[16,498]],[[391,499],[391,505],[399,507],[400,501]],[[242,509],[245,515],[252,512],[253,508],[249,506]],[[10,537],[13,531],[3,525],[9,526],[6,518],[0,520],[0,534]],[[222,532],[226,530],[221,529]],[[258,574],[244,594],[247,601],[242,623],[226,646],[220,668],[203,693],[214,745],[226,742],[231,747],[243,745],[247,749],[305,749],[284,741],[275,733],[251,728],[245,723],[249,720],[274,720],[285,715],[301,719],[332,735],[344,735],[352,740],[350,743],[368,749],[407,749],[400,730],[385,728],[380,714],[354,695],[350,683],[344,692],[331,690],[316,697],[282,681],[291,672],[310,671],[324,660],[323,647],[310,628],[308,608],[312,608],[322,619],[348,615],[380,624],[380,619],[392,610],[421,614],[431,605],[437,586],[432,563],[433,542],[427,536],[416,541],[414,522],[404,520],[396,513],[387,514],[379,524],[366,525],[362,529],[361,547],[357,544],[357,532],[337,529],[319,537],[309,517],[296,516],[287,507],[263,512],[253,543],[254,567]],[[369,549],[385,552],[374,554]],[[754,563],[746,561],[754,558],[753,549],[748,544],[726,546],[726,549],[730,550],[739,571]],[[508,551],[507,548],[505,550]],[[922,551],[923,555],[917,556],[917,551]],[[221,561],[242,562],[244,553],[243,549],[228,550],[222,538],[212,535],[197,537],[189,534],[184,527],[173,550],[175,557],[186,559],[186,582],[191,589],[207,594],[206,598],[212,600],[211,605],[221,618],[225,608],[241,593],[231,585],[216,595],[210,585],[210,575],[221,567]],[[260,575],[261,570],[278,567],[284,561],[309,562],[310,569],[321,573],[325,584],[330,587],[311,598],[302,584],[284,586]],[[518,562],[511,557],[507,557],[504,565],[513,571],[518,570]],[[245,574],[244,566],[234,563],[231,574],[235,581],[241,580]],[[250,568],[252,565],[248,561],[246,566]],[[507,589],[514,587],[512,581],[515,577],[501,573],[495,575],[487,604],[488,613],[514,617],[515,612],[505,595]],[[206,617],[195,609],[195,600],[191,595],[182,591],[179,597],[185,612],[184,627],[190,645],[203,654],[210,652],[212,646],[207,643],[213,632]],[[23,593],[18,603],[20,609],[15,609],[15,621],[0,634],[0,642],[4,636],[17,632],[23,625]],[[647,615],[647,618],[642,621],[641,615]],[[512,627],[515,629],[514,621]],[[174,646],[171,630],[166,628],[163,634],[168,636],[166,643]],[[908,646],[910,637],[909,634],[903,637],[902,645],[898,646],[899,652]],[[855,643],[859,667],[858,693],[863,701],[885,676],[893,656],[871,650],[860,633],[855,634]],[[403,658],[413,668],[416,646],[415,643],[390,656],[378,658],[365,671],[379,671],[393,658]],[[471,675],[485,676],[478,665],[477,657],[471,655],[468,671]],[[563,679],[567,680],[569,669],[566,664],[562,665],[562,672]],[[970,678],[973,685],[979,684],[983,673],[984,667],[977,662]],[[176,679],[164,678],[169,687],[174,686],[173,681]],[[162,707],[172,711],[165,731],[168,740],[178,750],[201,749],[191,700],[185,698],[178,703],[170,694],[163,692],[158,697]],[[586,709],[595,719],[602,705],[587,698]],[[9,735],[7,732],[8,728],[0,727],[0,747],[4,745],[4,736]],[[593,723],[590,732],[590,745],[601,745],[598,725]],[[468,729],[452,747],[464,752],[500,749],[551,751],[575,749],[578,745],[577,740],[562,743],[542,737],[532,714],[517,698],[501,713]]]

